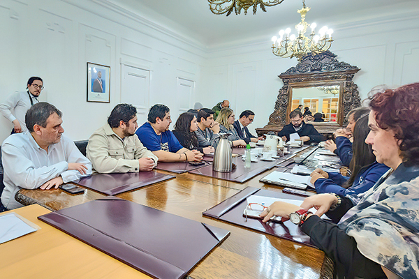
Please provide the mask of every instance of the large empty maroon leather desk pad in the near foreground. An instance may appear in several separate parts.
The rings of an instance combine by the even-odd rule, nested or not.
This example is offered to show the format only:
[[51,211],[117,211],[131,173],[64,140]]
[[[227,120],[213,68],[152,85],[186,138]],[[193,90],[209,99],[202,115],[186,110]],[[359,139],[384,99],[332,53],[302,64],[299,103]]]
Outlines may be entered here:
[[117,197],[38,219],[154,278],[184,278],[230,232]]

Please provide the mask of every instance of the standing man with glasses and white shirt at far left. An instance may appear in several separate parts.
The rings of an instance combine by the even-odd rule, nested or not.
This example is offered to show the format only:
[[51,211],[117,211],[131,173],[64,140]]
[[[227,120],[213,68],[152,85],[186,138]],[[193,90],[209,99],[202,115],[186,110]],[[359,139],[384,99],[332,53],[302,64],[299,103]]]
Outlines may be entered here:
[[1,114],[13,123],[12,134],[27,131],[24,116],[32,105],[39,103],[38,96],[43,88],[41,77],[31,77],[27,91],[16,91],[0,105]]

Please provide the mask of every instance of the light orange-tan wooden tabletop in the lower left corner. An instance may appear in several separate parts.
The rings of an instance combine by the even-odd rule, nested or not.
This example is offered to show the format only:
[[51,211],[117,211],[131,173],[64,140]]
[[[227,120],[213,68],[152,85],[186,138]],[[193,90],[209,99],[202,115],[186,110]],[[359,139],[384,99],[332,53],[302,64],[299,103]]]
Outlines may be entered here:
[[50,211],[38,204],[13,211],[41,229],[0,244],[1,278],[150,278],[41,222]]

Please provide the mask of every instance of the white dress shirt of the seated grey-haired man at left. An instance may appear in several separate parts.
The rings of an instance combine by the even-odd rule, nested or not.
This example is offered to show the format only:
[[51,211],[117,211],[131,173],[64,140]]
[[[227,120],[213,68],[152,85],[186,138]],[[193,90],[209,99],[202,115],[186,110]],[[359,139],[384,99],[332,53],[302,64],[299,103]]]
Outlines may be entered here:
[[[10,135],[1,146],[1,161],[5,186],[1,202],[7,209],[22,206],[15,200],[15,195],[21,188],[39,188],[59,175],[67,183],[91,174],[90,161],[64,135],[59,143],[48,146],[48,152],[41,149],[29,131]],[[83,163],[87,167],[87,174],[68,170],[68,163]]]

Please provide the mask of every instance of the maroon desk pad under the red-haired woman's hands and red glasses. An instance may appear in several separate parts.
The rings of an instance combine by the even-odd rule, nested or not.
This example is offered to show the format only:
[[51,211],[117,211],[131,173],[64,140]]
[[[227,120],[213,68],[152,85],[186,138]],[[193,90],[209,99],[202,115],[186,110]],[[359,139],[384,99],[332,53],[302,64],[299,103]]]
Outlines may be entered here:
[[283,199],[304,199],[304,197],[299,197],[297,195],[288,195],[270,190],[247,187],[236,195],[233,195],[232,197],[229,197],[225,201],[221,202],[220,204],[217,204],[207,211],[204,211],[203,216],[216,218],[228,223],[239,225],[241,227],[255,229],[256,231],[264,232],[266,234],[272,234],[273,236],[278,236],[282,239],[288,239],[307,246],[316,247],[310,243],[309,236],[304,234],[300,227],[291,223],[290,220],[287,220],[284,223],[263,223],[262,220],[256,218],[247,218],[246,222],[246,218],[243,216],[243,211],[247,206],[246,199],[251,195],[279,197]]

